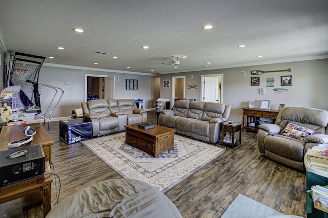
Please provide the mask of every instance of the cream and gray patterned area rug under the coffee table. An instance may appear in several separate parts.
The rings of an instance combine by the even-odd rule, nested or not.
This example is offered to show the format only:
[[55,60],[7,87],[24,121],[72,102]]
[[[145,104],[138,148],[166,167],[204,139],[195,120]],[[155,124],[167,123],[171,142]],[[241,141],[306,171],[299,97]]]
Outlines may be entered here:
[[81,142],[124,178],[137,179],[165,192],[226,149],[174,135],[174,150],[157,158],[125,144],[125,133]]

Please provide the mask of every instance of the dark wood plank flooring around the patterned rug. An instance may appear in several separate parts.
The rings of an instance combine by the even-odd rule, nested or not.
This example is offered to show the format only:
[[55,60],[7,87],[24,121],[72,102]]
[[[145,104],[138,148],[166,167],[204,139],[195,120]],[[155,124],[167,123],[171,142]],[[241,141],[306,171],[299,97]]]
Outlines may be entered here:
[[[149,123],[156,123],[154,111],[148,112],[148,118]],[[59,122],[51,123],[49,134],[55,142],[52,161],[61,182],[59,202],[89,184],[121,178],[81,143],[60,141]],[[58,180],[56,184],[57,189],[52,184],[52,207],[57,204]],[[220,217],[239,193],[281,213],[306,217],[305,189],[305,172],[265,158],[258,151],[256,134],[243,132],[241,145],[227,147],[226,152],[165,194],[183,217]],[[31,210],[24,215],[17,204],[0,205],[0,217],[42,217]]]

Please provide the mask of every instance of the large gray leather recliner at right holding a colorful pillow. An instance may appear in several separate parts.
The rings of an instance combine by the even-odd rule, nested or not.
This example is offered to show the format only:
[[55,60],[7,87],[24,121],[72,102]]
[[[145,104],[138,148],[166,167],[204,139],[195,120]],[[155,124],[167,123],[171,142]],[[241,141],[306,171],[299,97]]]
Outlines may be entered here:
[[[287,124],[293,123],[315,130],[305,138],[282,135]],[[304,171],[304,155],[315,145],[328,148],[328,112],[309,107],[283,107],[275,124],[261,124],[257,132],[258,148],[266,157]]]

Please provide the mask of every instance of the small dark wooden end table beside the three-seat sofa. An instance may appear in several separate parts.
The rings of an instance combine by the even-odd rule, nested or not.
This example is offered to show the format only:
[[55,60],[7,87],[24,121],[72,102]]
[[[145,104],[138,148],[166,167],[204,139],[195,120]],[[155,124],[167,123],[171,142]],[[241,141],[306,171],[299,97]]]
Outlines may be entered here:
[[[241,144],[241,122],[223,122],[222,123],[222,139],[221,145],[227,144],[235,148],[236,143],[235,133],[239,131],[239,144]],[[225,133],[229,133],[229,138],[227,138]]]

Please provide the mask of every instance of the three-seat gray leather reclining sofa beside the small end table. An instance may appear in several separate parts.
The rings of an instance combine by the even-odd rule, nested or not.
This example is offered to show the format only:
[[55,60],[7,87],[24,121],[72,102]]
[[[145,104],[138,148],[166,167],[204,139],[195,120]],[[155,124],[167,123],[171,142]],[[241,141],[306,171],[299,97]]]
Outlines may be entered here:
[[227,121],[231,105],[199,101],[176,101],[172,110],[159,111],[158,124],[176,133],[206,142],[220,139],[220,123]]

